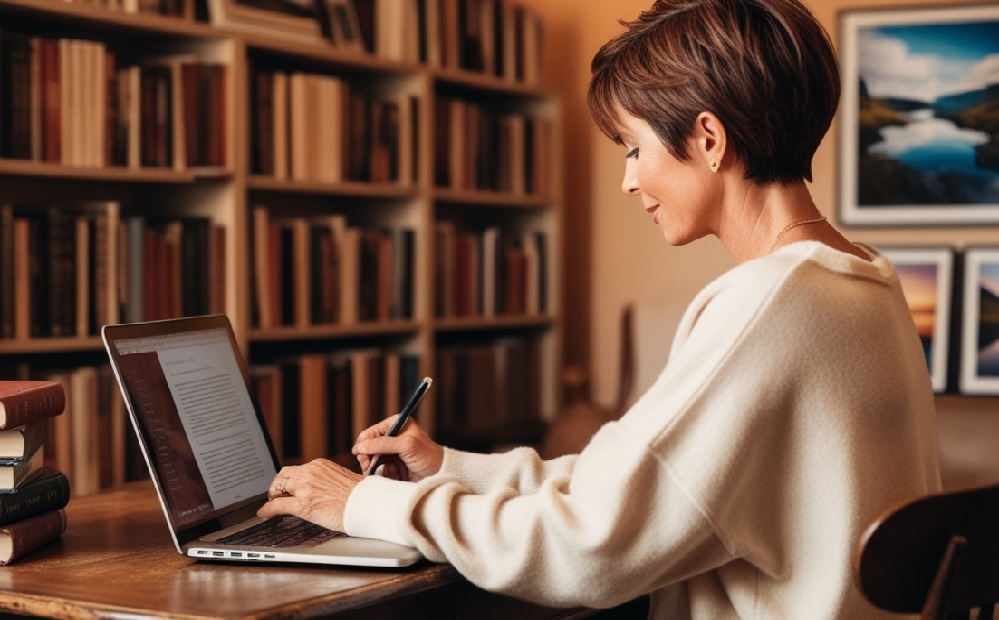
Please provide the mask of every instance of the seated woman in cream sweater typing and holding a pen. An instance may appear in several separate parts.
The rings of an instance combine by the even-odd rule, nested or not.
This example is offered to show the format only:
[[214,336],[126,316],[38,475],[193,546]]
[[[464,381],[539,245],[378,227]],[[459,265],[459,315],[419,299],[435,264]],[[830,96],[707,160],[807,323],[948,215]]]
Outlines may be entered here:
[[385,421],[354,451],[397,455],[387,475],[289,467],[260,514],[414,545],[546,605],[874,617],[851,553],[939,488],[936,427],[893,267],[805,185],[839,97],[828,36],[796,0],[659,0],[624,25],[589,92],[623,190],[668,243],[714,235],[738,263],[693,300],[656,383],[553,461],[446,449],[414,423],[387,438]]

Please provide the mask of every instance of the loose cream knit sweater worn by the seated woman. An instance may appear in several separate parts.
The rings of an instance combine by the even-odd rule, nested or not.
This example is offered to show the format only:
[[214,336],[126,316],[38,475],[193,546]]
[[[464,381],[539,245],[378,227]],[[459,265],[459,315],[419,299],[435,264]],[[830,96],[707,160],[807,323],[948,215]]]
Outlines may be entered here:
[[708,285],[656,383],[578,456],[447,450],[419,483],[365,479],[345,529],[551,606],[877,617],[851,580],[860,535],[940,475],[925,357],[864,249],[792,244]]

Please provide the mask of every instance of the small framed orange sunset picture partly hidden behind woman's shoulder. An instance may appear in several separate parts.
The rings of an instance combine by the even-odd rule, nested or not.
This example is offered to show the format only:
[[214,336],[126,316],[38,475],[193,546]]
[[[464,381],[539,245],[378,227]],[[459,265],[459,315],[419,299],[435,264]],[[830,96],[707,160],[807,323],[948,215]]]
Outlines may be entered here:
[[951,248],[884,247],[895,264],[909,312],[930,370],[934,392],[947,389],[950,363],[950,307],[954,294],[954,250]]

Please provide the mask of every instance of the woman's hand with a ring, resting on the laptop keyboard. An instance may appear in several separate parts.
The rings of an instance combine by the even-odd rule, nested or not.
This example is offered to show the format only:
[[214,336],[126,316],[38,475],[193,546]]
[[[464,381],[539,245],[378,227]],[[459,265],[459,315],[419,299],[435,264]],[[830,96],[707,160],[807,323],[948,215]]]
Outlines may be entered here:
[[257,510],[257,516],[292,515],[342,532],[347,498],[362,479],[360,474],[326,459],[282,467],[267,489],[268,501]]

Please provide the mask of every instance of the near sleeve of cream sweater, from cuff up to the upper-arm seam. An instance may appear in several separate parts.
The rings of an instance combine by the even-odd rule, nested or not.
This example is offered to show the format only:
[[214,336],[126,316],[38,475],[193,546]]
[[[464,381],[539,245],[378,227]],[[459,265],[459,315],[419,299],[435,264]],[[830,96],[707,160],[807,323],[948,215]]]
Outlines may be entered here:
[[730,559],[643,438],[616,423],[571,473],[528,494],[476,492],[444,472],[415,484],[369,477],[351,493],[345,530],[414,545],[484,589],[550,606],[612,606]]

